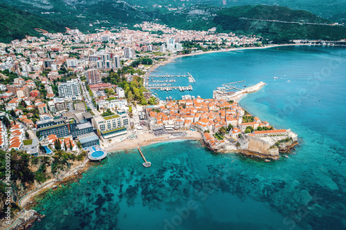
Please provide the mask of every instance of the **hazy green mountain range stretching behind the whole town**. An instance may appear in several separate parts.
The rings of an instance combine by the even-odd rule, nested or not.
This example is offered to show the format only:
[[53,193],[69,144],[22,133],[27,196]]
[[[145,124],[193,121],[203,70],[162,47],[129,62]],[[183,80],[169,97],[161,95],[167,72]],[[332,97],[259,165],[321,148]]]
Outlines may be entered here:
[[[156,21],[185,30],[208,30],[216,27],[217,32],[260,35],[282,42],[289,39],[338,40],[345,39],[346,35],[343,26],[329,26],[331,21],[311,12],[282,6],[246,5],[224,8],[210,4],[193,5],[197,2],[212,3],[214,0],[172,1],[171,6],[167,0],[126,0],[129,3],[113,0],[0,1],[16,4],[18,8],[25,8],[28,12],[69,28],[79,28],[82,32]],[[159,6],[158,3],[163,5]],[[187,7],[188,4],[192,6]]]

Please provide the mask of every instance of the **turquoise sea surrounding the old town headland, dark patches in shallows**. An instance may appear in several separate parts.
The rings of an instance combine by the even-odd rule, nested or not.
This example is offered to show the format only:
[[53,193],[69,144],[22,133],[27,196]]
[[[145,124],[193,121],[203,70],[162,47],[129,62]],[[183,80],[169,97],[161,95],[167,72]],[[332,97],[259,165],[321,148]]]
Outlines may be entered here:
[[[299,145],[273,162],[212,153],[194,140],[110,153],[79,182],[49,192],[33,229],[346,229],[346,49],[280,46],[179,57],[152,75],[212,98],[222,84],[266,85],[239,102]],[[275,78],[274,78],[275,77]],[[165,78],[162,78],[165,80]],[[171,78],[172,79],[172,78]]]

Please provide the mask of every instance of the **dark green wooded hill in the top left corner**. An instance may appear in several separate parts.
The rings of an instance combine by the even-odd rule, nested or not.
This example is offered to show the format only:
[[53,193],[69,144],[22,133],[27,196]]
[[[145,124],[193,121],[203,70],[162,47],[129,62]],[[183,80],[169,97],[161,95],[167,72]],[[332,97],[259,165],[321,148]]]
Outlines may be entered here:
[[24,39],[26,35],[41,37],[35,28],[48,32],[66,31],[64,26],[53,21],[0,3],[0,42]]

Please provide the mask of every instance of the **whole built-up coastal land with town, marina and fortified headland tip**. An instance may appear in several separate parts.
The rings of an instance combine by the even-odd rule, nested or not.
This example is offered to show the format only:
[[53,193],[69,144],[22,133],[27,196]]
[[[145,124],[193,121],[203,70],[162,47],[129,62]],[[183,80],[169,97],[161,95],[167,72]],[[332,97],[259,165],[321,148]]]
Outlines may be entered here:
[[[79,175],[89,160],[102,160],[114,151],[199,140],[218,153],[238,152],[269,161],[297,143],[290,129],[275,129],[239,106],[242,96],[260,90],[264,82],[242,88],[225,83],[228,88],[215,88],[211,99],[172,99],[169,94],[165,99],[158,90],[193,94],[198,79],[190,73],[149,74],[184,55],[272,45],[265,46],[260,37],[191,32],[147,22],[136,26],[142,30],[90,35],[78,29],[68,34],[42,30],[44,37],[0,44],[0,153],[3,165],[9,154],[11,164],[20,169],[11,171],[9,181],[3,178],[16,189],[10,196],[11,218],[3,227],[21,227],[25,220],[35,219],[34,212],[23,211],[35,194]],[[179,86],[178,77],[189,85]],[[5,202],[1,208],[6,209]]]

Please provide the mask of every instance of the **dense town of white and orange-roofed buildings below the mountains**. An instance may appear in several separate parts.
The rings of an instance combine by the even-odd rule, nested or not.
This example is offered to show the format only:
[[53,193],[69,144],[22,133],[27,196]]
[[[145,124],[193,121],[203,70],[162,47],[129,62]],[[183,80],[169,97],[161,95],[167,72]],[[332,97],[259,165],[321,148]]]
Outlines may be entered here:
[[[242,113],[237,104],[200,98],[165,104],[144,85],[150,70],[170,57],[260,46],[260,38],[146,22],[135,27],[138,30],[91,35],[69,28],[66,34],[42,31],[39,38],[0,44],[1,148],[33,156],[60,149],[78,154],[81,148],[156,131],[161,124],[168,131],[197,128],[215,133],[232,124],[235,128],[228,132],[238,134]],[[212,112],[220,103],[235,110],[220,113],[215,121]],[[147,105],[158,105],[160,113]]]

